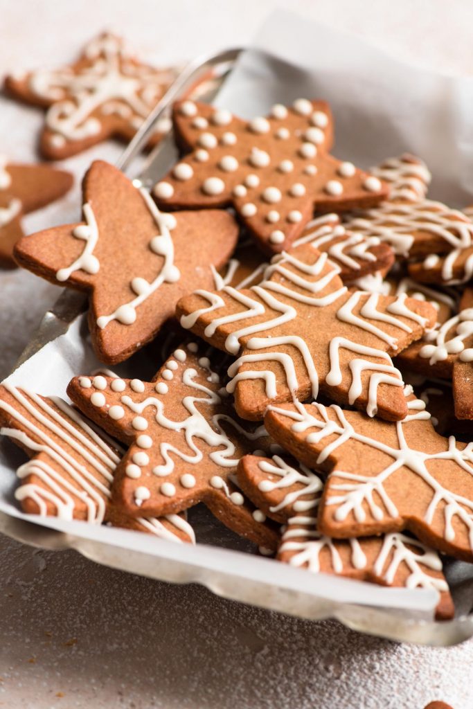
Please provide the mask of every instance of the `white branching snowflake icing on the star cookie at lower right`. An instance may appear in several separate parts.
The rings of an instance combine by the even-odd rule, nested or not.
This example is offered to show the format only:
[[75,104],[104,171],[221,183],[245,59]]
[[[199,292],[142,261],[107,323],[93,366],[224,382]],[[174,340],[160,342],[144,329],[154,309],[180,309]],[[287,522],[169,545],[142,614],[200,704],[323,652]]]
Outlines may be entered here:
[[[406,395],[411,393],[411,391],[411,387],[406,387]],[[311,409],[318,416],[313,415]],[[335,406],[335,404],[327,408],[319,403],[313,403],[310,407],[296,403],[296,411],[286,411],[277,408],[273,408],[273,411],[293,419],[292,430],[304,432],[306,434],[306,442],[309,444],[318,444],[323,438],[336,436],[335,440],[332,440],[321,450],[317,464],[323,463],[330,454],[333,454],[338,448],[349,444],[350,441],[363,443],[369,448],[386,454],[391,459],[391,462],[386,464],[386,467],[372,476],[364,475],[362,472],[343,471],[338,469],[338,466],[335,466],[335,469],[330,474],[329,481],[336,478],[341,479],[343,482],[331,483],[330,490],[339,491],[340,494],[328,496],[325,499],[325,505],[337,506],[334,514],[335,520],[342,522],[352,513],[358,523],[363,523],[366,520],[365,505],[370,515],[377,522],[381,522],[386,517],[391,519],[399,518],[399,510],[395,501],[387,493],[384,483],[392,474],[405,467],[414,476],[420,476],[433,491],[432,499],[424,515],[425,524],[430,526],[430,531],[435,534],[438,533],[433,526],[433,522],[435,515],[443,512],[443,538],[447,542],[455,541],[457,532],[455,531],[453,520],[456,519],[457,525],[463,525],[464,530],[467,532],[469,545],[473,550],[473,501],[461,493],[445,488],[440,480],[428,470],[430,461],[450,461],[456,464],[459,474],[460,471],[464,471],[473,475],[473,443],[469,443],[463,450],[460,450],[457,448],[455,437],[450,436],[447,450],[428,453],[411,448],[406,440],[404,426],[411,421],[427,421],[430,419],[430,414],[425,411],[425,403],[423,401],[419,399],[408,401],[409,413],[406,418],[391,424],[396,432],[397,447],[389,445],[384,440],[374,438],[368,433],[363,434],[358,431],[355,425],[350,424],[347,420],[345,412],[340,406]],[[331,417],[330,413],[333,413],[335,418]],[[372,422],[372,426],[375,425],[377,425],[377,422]],[[384,435],[382,437],[384,439]],[[376,493],[379,502],[375,500],[374,493]]]

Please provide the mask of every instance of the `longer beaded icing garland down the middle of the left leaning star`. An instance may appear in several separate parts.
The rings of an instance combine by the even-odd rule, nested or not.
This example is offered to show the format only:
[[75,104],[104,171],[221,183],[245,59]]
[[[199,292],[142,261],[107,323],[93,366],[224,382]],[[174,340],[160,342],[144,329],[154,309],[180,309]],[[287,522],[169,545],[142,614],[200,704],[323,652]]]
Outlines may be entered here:
[[[140,194],[143,196],[145,205],[148,207],[159,230],[159,235],[153,237],[150,241],[150,249],[157,255],[162,256],[164,261],[160,273],[150,284],[147,284],[145,279],[140,279],[140,281],[144,281],[145,287],[140,287],[140,293],[138,293],[135,298],[128,301],[128,303],[123,303],[121,306],[118,306],[110,315],[99,316],[99,318],[97,318],[97,325],[101,330],[106,328],[111,320],[118,320],[118,322],[123,325],[131,325],[136,320],[136,308],[138,308],[141,303],[149,298],[152,293],[157,291],[163,283],[175,283],[180,278],[179,270],[174,265],[174,244],[170,234],[171,228],[175,226],[175,219],[174,217],[169,219],[170,215],[160,212],[145,189],[140,189]],[[132,279],[131,282],[133,283],[133,281],[137,280],[138,279]],[[134,290],[136,292],[137,289]]]

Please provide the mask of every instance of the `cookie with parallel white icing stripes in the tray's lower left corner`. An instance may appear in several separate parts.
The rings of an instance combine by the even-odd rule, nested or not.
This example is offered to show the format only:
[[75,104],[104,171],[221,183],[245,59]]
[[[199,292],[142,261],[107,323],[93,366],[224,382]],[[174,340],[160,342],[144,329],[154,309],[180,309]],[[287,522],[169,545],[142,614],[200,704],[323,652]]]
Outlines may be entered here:
[[162,539],[195,540],[182,515],[130,519],[118,513],[110,498],[123,451],[57,396],[38,396],[4,382],[0,424],[1,434],[30,455],[18,468],[21,485],[15,491],[26,513],[92,524],[106,521]]

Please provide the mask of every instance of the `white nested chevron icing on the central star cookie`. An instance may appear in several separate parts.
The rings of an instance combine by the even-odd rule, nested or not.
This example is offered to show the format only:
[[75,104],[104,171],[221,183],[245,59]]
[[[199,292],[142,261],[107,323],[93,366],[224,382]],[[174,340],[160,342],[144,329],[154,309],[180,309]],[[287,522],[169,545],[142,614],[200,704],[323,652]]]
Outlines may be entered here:
[[[288,267],[292,267],[292,269]],[[294,251],[290,253],[282,252],[282,255],[274,257],[272,263],[266,269],[265,279],[260,284],[252,286],[250,291],[241,292],[231,286],[225,286],[220,293],[211,293],[204,290],[196,291],[196,294],[206,299],[210,305],[182,316],[181,325],[187,329],[192,328],[201,316],[214,313],[219,308],[225,308],[226,300],[222,297],[223,295],[228,296],[231,301],[239,303],[244,309],[243,311],[223,314],[222,316],[218,316],[218,313],[216,313],[211,323],[206,326],[204,335],[205,337],[212,337],[221,325],[238,323],[240,320],[245,320],[246,323],[250,322],[243,328],[235,328],[233,333],[230,333],[226,338],[225,347],[231,354],[238,354],[241,346],[240,340],[243,337],[264,333],[266,330],[273,330],[285,325],[285,323],[289,323],[291,320],[296,320],[299,316],[298,310],[301,304],[317,308],[340,301],[340,306],[336,311],[340,324],[343,321],[350,325],[356,325],[365,330],[365,332],[376,335],[379,340],[389,345],[391,349],[395,349],[397,346],[396,337],[389,336],[382,328],[377,328],[372,323],[367,322],[365,318],[379,320],[404,332],[410,332],[411,328],[399,318],[395,318],[394,315],[403,316],[420,325],[425,324],[423,318],[420,318],[420,316],[406,307],[405,296],[399,296],[396,301],[384,307],[383,309],[386,312],[377,309],[381,296],[374,295],[366,298],[366,296],[358,293],[348,294],[347,297],[347,289],[342,286],[341,281],[338,279],[339,272],[340,269],[328,261],[326,253],[319,255],[316,262],[309,265],[301,262],[294,255]],[[284,281],[272,280],[272,274],[279,274],[284,278]],[[335,278],[337,278],[338,282],[332,283]],[[338,287],[338,284],[340,284],[340,287]],[[257,299],[252,297],[253,295],[257,296]],[[366,303],[363,304],[360,314],[355,316],[352,312],[353,307],[362,297],[365,298]],[[271,319],[258,323],[251,322],[253,318],[260,320],[260,316],[266,313],[267,308],[272,312]],[[313,360],[308,342],[300,335],[295,334],[296,329],[294,328],[294,334],[292,335],[285,335],[283,330],[279,336],[274,334],[267,337],[250,337],[245,342],[245,354],[239,357],[228,369],[228,374],[233,377],[227,385],[228,391],[233,393],[238,381],[262,379],[265,381],[266,396],[268,398],[277,396],[277,379],[271,369],[261,370],[252,369],[251,367],[241,369],[243,364],[266,361],[278,362],[282,366],[286,376],[286,384],[289,390],[295,393],[299,389],[299,381],[296,376],[294,359],[285,352],[274,351],[274,348],[291,345],[299,351],[306,367],[308,378],[311,381],[312,396],[316,398],[319,386],[316,362]],[[394,368],[389,354],[384,350],[360,345],[358,342],[352,342],[346,337],[333,337],[329,347],[330,372],[325,377],[325,382],[328,386],[338,386],[342,381],[340,347],[362,355],[361,358],[354,358],[350,362],[352,376],[352,385],[349,393],[350,403],[354,403],[363,391],[362,374],[367,371],[373,372],[369,377],[367,413],[375,415],[377,413],[377,389],[379,384],[402,386],[401,374]],[[248,350],[268,348],[272,351],[255,352],[255,354],[248,352]],[[364,357],[377,357],[382,359],[382,363],[372,362],[364,359]]]

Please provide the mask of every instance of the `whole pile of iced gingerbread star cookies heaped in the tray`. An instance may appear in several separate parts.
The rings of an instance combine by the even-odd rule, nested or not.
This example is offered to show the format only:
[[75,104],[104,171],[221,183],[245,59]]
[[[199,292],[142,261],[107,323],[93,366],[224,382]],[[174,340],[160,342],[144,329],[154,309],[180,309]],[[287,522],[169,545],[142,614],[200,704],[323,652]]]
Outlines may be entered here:
[[335,159],[322,101],[243,121],[187,99],[173,125],[182,159],[150,192],[94,162],[82,221],[16,242],[89,294],[104,365],[164,352],[150,381],[136,358],[77,372],[74,406],[5,382],[16,498],[191,543],[204,503],[279,562],[435,588],[452,617],[441,555],[473,562],[468,211],[428,199],[412,155]]

